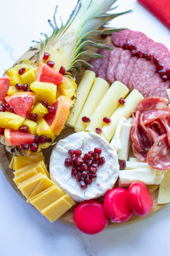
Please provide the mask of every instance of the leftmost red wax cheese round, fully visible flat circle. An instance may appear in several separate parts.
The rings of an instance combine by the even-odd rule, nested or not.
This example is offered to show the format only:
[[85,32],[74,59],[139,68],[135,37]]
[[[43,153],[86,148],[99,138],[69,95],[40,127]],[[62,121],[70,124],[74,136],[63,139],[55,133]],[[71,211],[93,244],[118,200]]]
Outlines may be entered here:
[[95,200],[80,203],[74,209],[73,220],[80,231],[89,235],[101,232],[108,223],[103,204]]

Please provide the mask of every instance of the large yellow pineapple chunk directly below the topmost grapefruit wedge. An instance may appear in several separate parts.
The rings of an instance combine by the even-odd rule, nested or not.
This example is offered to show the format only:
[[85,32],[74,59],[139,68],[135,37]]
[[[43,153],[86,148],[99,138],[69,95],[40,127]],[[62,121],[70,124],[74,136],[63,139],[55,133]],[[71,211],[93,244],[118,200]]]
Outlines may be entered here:
[[57,86],[55,84],[36,81],[30,85],[30,88],[49,104],[53,104],[56,101]]

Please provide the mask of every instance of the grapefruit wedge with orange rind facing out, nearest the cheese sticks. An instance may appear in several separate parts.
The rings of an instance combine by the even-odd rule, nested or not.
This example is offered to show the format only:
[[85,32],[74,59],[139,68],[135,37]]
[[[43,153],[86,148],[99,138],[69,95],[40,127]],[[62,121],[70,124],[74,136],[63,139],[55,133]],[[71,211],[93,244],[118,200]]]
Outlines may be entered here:
[[55,135],[59,135],[69,115],[70,99],[69,97],[61,95],[52,106],[55,107],[55,112],[53,114],[46,114],[44,119]]

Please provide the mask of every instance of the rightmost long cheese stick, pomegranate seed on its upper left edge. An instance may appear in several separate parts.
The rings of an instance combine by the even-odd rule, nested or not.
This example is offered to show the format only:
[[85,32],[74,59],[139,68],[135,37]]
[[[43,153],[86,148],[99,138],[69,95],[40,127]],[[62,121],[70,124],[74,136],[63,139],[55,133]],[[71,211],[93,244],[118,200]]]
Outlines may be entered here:
[[133,91],[126,97],[124,105],[118,106],[114,111],[111,118],[111,123],[109,125],[104,125],[102,129],[101,136],[106,140],[110,141],[115,134],[116,127],[121,117],[128,119],[132,115],[138,105],[138,103],[143,99],[143,96],[140,92],[133,89]]

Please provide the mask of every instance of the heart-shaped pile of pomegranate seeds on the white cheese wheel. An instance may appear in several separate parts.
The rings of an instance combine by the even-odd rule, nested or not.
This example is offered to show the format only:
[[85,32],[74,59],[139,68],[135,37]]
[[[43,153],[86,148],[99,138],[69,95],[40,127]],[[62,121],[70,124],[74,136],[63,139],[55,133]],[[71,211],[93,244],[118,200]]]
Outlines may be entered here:
[[101,148],[94,148],[94,151],[89,151],[83,157],[80,149],[68,151],[70,158],[65,158],[64,165],[72,166],[71,176],[79,182],[81,189],[87,188],[92,179],[97,178],[98,166],[105,163],[104,156],[100,156],[101,151]]

